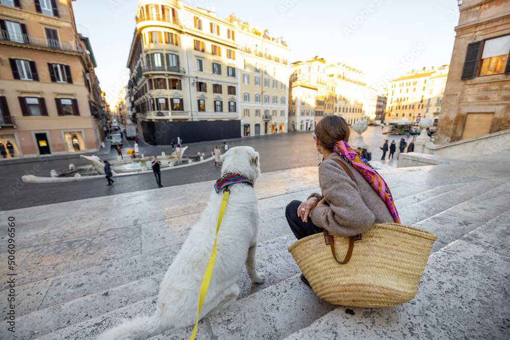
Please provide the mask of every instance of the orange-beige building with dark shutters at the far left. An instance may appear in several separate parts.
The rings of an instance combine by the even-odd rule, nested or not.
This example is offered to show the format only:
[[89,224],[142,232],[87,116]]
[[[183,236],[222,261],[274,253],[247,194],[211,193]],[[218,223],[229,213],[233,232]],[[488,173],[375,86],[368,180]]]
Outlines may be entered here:
[[99,83],[71,1],[2,0],[0,28],[0,159],[98,149]]

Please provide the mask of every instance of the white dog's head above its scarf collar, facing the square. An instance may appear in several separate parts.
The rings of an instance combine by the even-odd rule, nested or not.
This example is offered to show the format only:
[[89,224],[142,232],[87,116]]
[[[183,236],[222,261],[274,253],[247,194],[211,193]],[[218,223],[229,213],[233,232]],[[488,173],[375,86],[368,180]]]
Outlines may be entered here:
[[251,146],[236,146],[221,155],[221,175],[234,172],[248,178],[255,184],[260,176],[259,152]]

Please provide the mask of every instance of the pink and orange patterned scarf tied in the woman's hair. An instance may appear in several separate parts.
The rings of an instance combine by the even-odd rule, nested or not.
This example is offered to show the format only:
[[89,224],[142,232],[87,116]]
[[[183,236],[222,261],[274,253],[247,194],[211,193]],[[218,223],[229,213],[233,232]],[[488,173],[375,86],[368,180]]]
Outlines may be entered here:
[[385,201],[388,206],[388,210],[393,216],[395,223],[400,223],[398,217],[397,208],[393,202],[393,196],[391,195],[390,188],[386,185],[386,182],[379,175],[377,171],[368,163],[368,161],[358,155],[356,151],[351,149],[344,141],[339,141],[335,144],[334,151],[342,155],[344,159],[349,162],[354,169],[358,170],[362,176],[370,183],[372,188],[379,194],[382,200]]

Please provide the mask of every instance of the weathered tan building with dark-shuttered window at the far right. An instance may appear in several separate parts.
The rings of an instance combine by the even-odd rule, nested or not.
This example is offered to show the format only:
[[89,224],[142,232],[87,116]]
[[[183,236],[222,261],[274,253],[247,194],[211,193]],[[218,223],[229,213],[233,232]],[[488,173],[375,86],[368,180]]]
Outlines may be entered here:
[[510,2],[461,3],[437,144],[510,128]]

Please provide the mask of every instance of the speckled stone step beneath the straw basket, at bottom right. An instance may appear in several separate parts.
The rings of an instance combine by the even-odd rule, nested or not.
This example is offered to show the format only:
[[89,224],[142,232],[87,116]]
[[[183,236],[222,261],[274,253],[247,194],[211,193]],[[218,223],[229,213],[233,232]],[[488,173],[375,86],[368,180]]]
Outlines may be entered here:
[[510,337],[510,211],[433,253],[401,306],[339,306],[286,339]]

